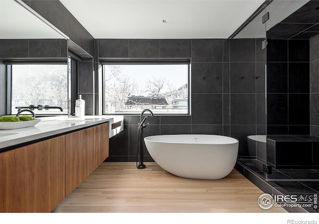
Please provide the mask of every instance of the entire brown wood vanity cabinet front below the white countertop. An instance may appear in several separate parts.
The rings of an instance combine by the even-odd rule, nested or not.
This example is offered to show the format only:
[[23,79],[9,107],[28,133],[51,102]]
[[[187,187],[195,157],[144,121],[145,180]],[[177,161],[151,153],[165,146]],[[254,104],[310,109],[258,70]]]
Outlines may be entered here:
[[0,212],[51,212],[108,154],[108,122],[0,153]]

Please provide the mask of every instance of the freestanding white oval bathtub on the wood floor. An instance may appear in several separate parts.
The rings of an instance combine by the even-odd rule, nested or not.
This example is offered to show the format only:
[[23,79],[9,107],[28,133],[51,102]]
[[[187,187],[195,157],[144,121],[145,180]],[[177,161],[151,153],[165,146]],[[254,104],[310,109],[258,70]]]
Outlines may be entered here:
[[185,178],[224,178],[233,170],[238,154],[238,140],[226,136],[160,135],[144,141],[160,167]]

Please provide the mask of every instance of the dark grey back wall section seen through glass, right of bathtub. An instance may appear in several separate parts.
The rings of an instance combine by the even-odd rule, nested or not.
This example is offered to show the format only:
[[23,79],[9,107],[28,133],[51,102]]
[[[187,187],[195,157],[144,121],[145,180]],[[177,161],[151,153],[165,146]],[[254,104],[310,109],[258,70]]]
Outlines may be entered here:
[[262,40],[230,40],[230,136],[239,141],[239,157],[256,158],[247,136],[266,135],[265,64]]

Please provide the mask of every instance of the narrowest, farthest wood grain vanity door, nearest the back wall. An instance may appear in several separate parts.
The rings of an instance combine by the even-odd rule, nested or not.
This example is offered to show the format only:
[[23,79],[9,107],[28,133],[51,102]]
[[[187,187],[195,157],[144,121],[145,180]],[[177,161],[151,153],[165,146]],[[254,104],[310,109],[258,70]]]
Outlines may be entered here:
[[94,127],[93,166],[96,169],[109,156],[109,123]]

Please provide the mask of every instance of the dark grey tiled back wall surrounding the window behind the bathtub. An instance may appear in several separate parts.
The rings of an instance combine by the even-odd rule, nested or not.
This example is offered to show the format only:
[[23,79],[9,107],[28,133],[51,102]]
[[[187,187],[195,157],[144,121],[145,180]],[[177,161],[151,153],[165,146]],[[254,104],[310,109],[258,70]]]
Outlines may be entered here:
[[[96,53],[95,68],[97,58],[191,58],[192,115],[150,117],[145,136],[233,136],[240,141],[239,155],[247,156],[247,136],[266,134],[265,53],[260,40],[98,39]],[[138,115],[125,116],[124,131],[110,139],[107,161],[136,161],[139,120]],[[152,161],[146,149],[145,155]]]

